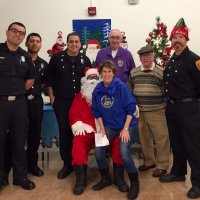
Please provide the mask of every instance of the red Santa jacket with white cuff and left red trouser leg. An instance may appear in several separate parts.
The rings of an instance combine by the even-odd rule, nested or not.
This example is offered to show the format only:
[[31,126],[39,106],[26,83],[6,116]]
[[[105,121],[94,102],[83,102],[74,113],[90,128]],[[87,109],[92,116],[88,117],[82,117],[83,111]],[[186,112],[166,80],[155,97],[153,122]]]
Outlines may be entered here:
[[[69,120],[74,134],[79,127],[82,127],[83,130],[83,134],[75,135],[73,139],[72,165],[87,165],[88,153],[94,146],[93,133],[96,132],[96,126],[91,106],[89,106],[81,92],[73,100],[69,111]],[[85,129],[88,129],[88,132],[91,131],[91,133],[85,133]]]

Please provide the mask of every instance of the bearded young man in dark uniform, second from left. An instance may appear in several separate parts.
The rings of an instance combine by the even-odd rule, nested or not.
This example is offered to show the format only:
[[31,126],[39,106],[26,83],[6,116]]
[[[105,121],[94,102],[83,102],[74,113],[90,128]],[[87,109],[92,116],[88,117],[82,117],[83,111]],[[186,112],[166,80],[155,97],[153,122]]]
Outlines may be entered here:
[[40,145],[41,126],[43,118],[42,91],[45,86],[44,70],[47,62],[38,56],[42,46],[42,38],[38,33],[30,33],[26,38],[26,47],[35,65],[36,78],[34,85],[27,91],[29,129],[27,138],[28,172],[34,176],[43,176],[44,172],[38,166],[38,148]]

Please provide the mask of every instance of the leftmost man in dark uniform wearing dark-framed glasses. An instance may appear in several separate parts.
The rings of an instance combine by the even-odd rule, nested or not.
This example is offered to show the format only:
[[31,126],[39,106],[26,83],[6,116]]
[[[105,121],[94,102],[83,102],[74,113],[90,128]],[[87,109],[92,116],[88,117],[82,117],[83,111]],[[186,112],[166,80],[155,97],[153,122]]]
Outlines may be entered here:
[[19,47],[25,34],[25,26],[13,22],[6,31],[6,42],[0,44],[0,186],[4,178],[4,154],[9,130],[13,184],[31,190],[35,184],[27,178],[25,141],[28,114],[25,93],[34,83],[35,71],[30,56]]

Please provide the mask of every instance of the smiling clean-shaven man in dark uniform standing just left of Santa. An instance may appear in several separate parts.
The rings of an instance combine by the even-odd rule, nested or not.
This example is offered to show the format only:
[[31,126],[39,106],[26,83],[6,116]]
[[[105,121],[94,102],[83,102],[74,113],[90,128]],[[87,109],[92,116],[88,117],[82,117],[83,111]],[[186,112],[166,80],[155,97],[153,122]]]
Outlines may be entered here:
[[67,49],[54,54],[48,65],[48,91],[59,126],[59,148],[63,168],[58,179],[67,177],[72,171],[73,133],[69,126],[68,113],[74,96],[80,91],[80,80],[86,67],[91,67],[89,58],[79,53],[80,36],[70,33],[67,36]]

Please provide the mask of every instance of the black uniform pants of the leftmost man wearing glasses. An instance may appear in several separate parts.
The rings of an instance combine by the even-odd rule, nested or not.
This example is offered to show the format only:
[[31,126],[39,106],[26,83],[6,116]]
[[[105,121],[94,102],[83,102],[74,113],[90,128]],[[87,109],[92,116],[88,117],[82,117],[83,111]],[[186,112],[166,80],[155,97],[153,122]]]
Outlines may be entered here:
[[25,141],[27,137],[28,115],[25,97],[15,101],[0,99],[0,180],[4,176],[4,156],[7,132],[12,144],[12,165],[14,179],[27,175]]

